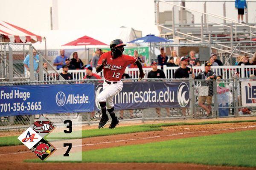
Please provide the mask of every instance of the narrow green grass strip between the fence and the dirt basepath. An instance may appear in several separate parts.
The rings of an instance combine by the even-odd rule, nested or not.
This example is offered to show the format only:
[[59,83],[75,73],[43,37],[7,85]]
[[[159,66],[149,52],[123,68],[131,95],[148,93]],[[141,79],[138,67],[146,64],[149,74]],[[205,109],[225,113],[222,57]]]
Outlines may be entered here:
[[[82,138],[88,138],[88,137],[94,137],[94,136],[108,136],[108,135],[125,134],[125,133],[135,133],[135,132],[156,131],[156,130],[163,130],[162,127],[166,127],[166,126],[207,125],[207,124],[238,123],[238,122],[256,122],[256,120],[210,121],[210,122],[195,122],[195,123],[185,123],[185,122],[179,122],[179,123],[160,123],[160,124],[123,126],[123,127],[116,127],[115,129],[108,129],[108,128],[104,128],[104,129],[90,129],[90,130],[82,130]],[[0,146],[12,146],[12,145],[22,144],[17,139],[17,137],[18,136],[0,137]]]

